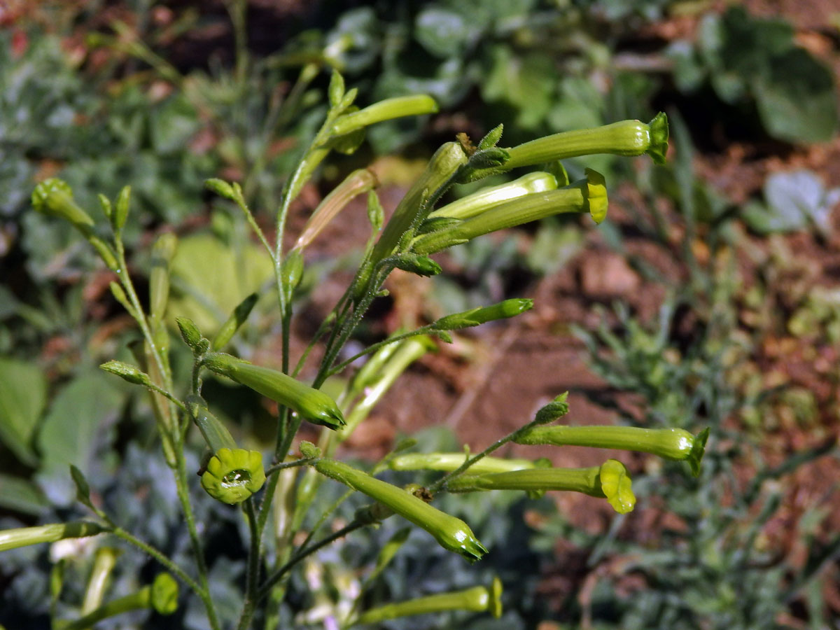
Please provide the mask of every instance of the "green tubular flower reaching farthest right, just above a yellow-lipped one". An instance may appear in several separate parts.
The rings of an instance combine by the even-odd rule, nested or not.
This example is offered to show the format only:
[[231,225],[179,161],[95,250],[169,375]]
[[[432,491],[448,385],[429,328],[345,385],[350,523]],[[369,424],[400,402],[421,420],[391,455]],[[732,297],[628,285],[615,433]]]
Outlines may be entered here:
[[517,444],[554,444],[555,446],[591,446],[596,449],[621,449],[650,453],[664,459],[688,461],[693,475],[700,474],[709,429],[697,436],[681,428],[641,427],[536,427],[522,433]]

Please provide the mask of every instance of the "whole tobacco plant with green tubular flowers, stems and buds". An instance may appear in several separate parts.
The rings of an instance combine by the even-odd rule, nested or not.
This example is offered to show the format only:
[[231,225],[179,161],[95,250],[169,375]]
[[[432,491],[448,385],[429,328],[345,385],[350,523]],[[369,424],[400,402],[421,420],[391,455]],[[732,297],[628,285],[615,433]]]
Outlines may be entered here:
[[[383,283],[391,271],[437,275],[441,267],[429,255],[483,234],[555,214],[588,214],[595,223],[600,223],[606,217],[607,207],[604,178],[596,171],[587,170],[584,178],[569,181],[558,160],[596,153],[647,154],[661,163],[668,142],[668,123],[661,113],[650,123],[627,120],[596,129],[549,135],[510,148],[498,146],[501,124],[477,144],[465,134],[459,134],[428,160],[425,170],[387,222],[376,194],[375,177],[370,171],[354,171],[312,212],[296,244],[284,249],[291,203],[333,151],[353,153],[364,139],[365,129],[375,123],[437,111],[436,102],[426,95],[390,98],[360,109],[354,104],[356,94],[355,89],[345,90],[344,79],[333,72],[328,87],[328,112],[297,165],[287,174],[274,217],[274,234],[266,234],[260,227],[262,223],[245,201],[239,183],[220,179],[206,182],[210,191],[233,202],[244,214],[274,271],[271,292],[276,298],[282,343],[280,356],[272,365],[255,365],[226,352],[234,335],[247,325],[259,296],[247,297],[216,330],[202,330],[192,319],[172,312],[171,261],[178,248],[174,234],[160,235],[153,245],[148,297],[141,297],[123,244],[123,228],[131,203],[129,186],[115,200],[99,197],[101,211],[110,227],[108,236],[104,235],[102,221],[95,220],[92,212],[74,201],[65,182],[48,179],[35,188],[34,210],[70,223],[87,240],[113,274],[110,284],[113,297],[139,328],[142,341],[131,347],[134,362],[112,360],[101,367],[148,390],[160,449],[171,471],[183,528],[192,547],[192,562],[187,564],[184,558],[175,559],[139,538],[132,532],[130,523],[120,522],[103,507],[101,497],[91,492],[81,470],[71,466],[77,499],[90,511],[89,518],[0,532],[0,551],[66,538],[97,536],[103,541],[102,554],[97,553],[94,561],[85,601],[71,619],[54,615],[55,627],[90,627],[101,619],[137,609],[171,614],[179,606],[195,600],[201,602],[206,624],[214,630],[231,625],[244,630],[257,622],[263,627],[277,627],[289,579],[307,565],[312,554],[355,530],[375,527],[390,517],[402,518],[425,530],[430,542],[433,540],[470,563],[480,561],[488,549],[468,522],[435,507],[435,498],[445,492],[502,489],[540,496],[545,491],[577,491],[606,498],[616,512],[633,510],[636,500],[632,482],[627,469],[617,459],[606,459],[591,468],[567,470],[555,468],[545,460],[491,456],[508,443],[576,444],[641,451],[665,459],[685,460],[690,464],[690,472],[698,474],[707,431],[695,436],[670,428],[558,425],[559,418],[569,411],[564,394],[539,409],[520,428],[499,436],[494,444],[477,454],[471,454],[466,446],[460,453],[408,453],[412,444],[403,442],[366,470],[337,459],[342,442],[365,421],[396,378],[413,361],[436,347],[436,339],[450,342],[453,331],[512,318],[533,307],[531,300],[517,298],[453,313],[420,328],[399,331],[351,353],[348,344],[355,339],[354,333],[371,304],[386,293]],[[480,189],[447,205],[440,204],[444,193],[456,182],[480,181],[513,168],[539,164],[548,166],[516,181]],[[307,265],[307,247],[337,213],[354,197],[363,194],[367,196],[372,230],[360,264],[344,295],[312,334],[307,348],[299,356],[292,356],[291,323],[301,307],[296,288]],[[180,343],[186,344],[192,354],[192,367],[186,378],[178,376],[181,371],[175,370],[171,361],[173,347]],[[320,359],[311,360],[313,355]],[[303,375],[310,376],[305,379]],[[336,375],[344,377],[345,386],[344,391],[333,397],[322,387]],[[234,381],[276,402],[275,446],[269,453],[246,449],[237,443],[202,396],[202,387],[208,379]],[[320,427],[318,444],[299,438],[303,423]],[[199,470],[191,465],[195,458],[188,440],[188,435],[196,430],[206,446]],[[416,484],[401,487],[377,478],[389,469],[432,470],[442,475],[428,487]],[[333,482],[346,486],[346,492],[325,508],[319,496],[327,490],[323,485]],[[197,486],[206,493],[201,498],[194,492]],[[339,522],[336,510],[354,492],[368,497],[370,504],[358,509],[349,521]],[[244,531],[246,539],[247,570],[235,620],[220,614],[213,596],[207,541],[202,537],[207,523],[200,520],[200,515],[207,511],[198,509],[201,501],[221,501],[234,506],[229,509],[241,512],[240,531]],[[331,519],[335,521],[332,532],[321,533],[322,526]],[[105,551],[111,549],[105,546],[110,544],[105,541],[113,538],[148,554],[159,565],[159,573],[138,592],[106,601],[104,585],[119,561],[116,554]],[[400,533],[383,547],[376,568],[365,584],[370,584],[386,567],[405,538],[405,533]],[[50,584],[54,603],[60,601],[60,564],[56,564]],[[363,592],[334,622],[340,627],[350,627],[449,610],[488,612],[498,617],[501,591],[501,582],[496,579],[489,585],[367,610]]]

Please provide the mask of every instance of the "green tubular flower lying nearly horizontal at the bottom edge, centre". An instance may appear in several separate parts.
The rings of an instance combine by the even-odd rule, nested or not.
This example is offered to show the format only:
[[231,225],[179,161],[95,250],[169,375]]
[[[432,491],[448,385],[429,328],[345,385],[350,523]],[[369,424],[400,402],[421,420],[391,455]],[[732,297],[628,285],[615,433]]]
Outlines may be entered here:
[[496,619],[501,617],[501,580],[496,577],[490,586],[473,586],[464,591],[417,597],[371,608],[357,617],[353,625],[444,611],[490,612]]

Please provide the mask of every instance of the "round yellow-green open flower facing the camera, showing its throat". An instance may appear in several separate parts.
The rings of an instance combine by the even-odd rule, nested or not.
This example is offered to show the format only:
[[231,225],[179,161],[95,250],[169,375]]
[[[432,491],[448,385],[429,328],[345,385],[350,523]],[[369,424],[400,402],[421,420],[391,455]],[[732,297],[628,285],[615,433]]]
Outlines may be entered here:
[[265,483],[262,454],[257,450],[218,449],[207,462],[202,488],[223,503],[240,503]]

